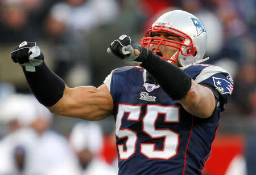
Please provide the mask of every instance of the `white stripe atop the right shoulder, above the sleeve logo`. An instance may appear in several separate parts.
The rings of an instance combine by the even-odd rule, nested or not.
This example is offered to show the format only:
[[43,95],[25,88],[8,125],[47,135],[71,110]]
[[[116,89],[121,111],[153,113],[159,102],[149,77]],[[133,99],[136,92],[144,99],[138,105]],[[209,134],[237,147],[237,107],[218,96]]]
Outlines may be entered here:
[[208,79],[210,76],[220,73],[220,72],[225,72],[228,74],[228,72],[221,67],[218,66],[209,66],[203,69],[199,75],[197,75],[195,82],[200,83],[203,82],[203,80]]

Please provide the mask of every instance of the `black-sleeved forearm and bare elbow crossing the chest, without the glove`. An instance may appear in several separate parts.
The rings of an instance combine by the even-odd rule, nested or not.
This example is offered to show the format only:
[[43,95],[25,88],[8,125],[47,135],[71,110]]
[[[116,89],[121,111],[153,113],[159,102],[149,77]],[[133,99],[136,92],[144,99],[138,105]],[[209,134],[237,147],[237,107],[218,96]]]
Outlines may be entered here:
[[187,112],[201,118],[207,118],[212,114],[215,99],[210,89],[195,83],[179,67],[164,61],[151,50],[143,56],[147,57],[141,59],[141,66],[154,76],[164,92],[183,105]]

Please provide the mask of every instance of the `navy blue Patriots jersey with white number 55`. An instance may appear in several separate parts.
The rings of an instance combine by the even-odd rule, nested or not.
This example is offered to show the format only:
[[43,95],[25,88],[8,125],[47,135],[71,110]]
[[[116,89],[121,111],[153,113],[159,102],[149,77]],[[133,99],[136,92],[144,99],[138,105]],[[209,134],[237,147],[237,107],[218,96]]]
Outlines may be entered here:
[[212,65],[194,65],[184,72],[220,93],[216,116],[192,116],[139,67],[115,69],[105,79],[114,102],[118,174],[202,172],[233,80],[224,69]]

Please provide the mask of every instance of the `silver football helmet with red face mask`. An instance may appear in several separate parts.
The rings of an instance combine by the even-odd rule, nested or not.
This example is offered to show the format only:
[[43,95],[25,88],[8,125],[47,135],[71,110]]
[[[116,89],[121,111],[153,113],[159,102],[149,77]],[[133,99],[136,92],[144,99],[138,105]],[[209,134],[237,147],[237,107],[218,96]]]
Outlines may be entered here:
[[[174,33],[180,36],[181,42],[151,37],[151,32]],[[171,42],[171,44],[167,44],[167,42]],[[180,46],[172,45],[172,43],[179,44]],[[157,45],[155,54],[158,53],[160,45],[179,49],[171,58],[161,58],[167,59],[172,63],[178,60],[180,66],[187,66],[203,59],[207,47],[207,32],[203,23],[196,16],[186,11],[174,10],[160,16],[152,24],[152,27],[146,31],[141,45],[149,49],[151,44]]]

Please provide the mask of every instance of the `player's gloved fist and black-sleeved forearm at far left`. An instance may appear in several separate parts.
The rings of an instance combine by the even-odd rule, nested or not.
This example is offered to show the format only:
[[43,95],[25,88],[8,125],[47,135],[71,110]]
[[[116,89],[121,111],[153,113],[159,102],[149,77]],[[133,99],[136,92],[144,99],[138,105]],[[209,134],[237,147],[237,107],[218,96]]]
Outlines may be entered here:
[[65,83],[46,66],[36,42],[20,43],[11,52],[11,59],[22,66],[28,86],[41,104],[52,106],[61,99]]

